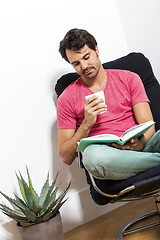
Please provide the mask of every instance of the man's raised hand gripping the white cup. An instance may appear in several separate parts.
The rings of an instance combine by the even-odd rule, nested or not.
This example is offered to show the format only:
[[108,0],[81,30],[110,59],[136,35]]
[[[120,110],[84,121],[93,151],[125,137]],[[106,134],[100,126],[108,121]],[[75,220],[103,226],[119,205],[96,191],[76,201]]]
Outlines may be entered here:
[[84,106],[84,120],[91,127],[97,121],[97,115],[103,111],[107,111],[107,106],[105,104],[101,104],[102,102],[104,102],[104,99],[98,99],[98,96],[92,96],[86,101]]

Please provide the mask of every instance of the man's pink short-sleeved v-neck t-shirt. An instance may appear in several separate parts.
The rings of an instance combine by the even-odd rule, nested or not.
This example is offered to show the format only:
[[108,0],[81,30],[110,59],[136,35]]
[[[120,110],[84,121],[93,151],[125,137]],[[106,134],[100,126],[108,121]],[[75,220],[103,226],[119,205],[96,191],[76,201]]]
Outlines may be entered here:
[[[140,77],[126,70],[108,69],[107,84],[104,89],[107,111],[97,116],[89,136],[99,134],[121,134],[135,126],[133,106],[139,102],[149,102]],[[78,129],[84,119],[85,96],[93,92],[80,77],[69,85],[57,102],[57,126],[59,129]]]

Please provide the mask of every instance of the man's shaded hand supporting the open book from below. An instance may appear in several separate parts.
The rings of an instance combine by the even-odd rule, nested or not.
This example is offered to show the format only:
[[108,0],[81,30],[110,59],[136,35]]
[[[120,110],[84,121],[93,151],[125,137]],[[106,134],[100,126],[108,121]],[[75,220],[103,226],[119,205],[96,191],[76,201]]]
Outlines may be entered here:
[[121,149],[121,150],[131,150],[131,151],[141,151],[145,146],[144,136],[140,138],[131,138],[129,142],[124,144],[123,146],[118,145],[116,143],[112,143],[112,147]]

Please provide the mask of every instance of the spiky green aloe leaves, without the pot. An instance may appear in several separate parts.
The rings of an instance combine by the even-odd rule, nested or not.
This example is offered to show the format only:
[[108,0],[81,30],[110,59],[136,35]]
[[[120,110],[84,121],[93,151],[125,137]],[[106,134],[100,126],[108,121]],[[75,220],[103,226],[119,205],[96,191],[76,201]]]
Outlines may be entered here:
[[33,188],[28,168],[27,175],[28,184],[21,173],[19,173],[19,176],[16,174],[22,198],[18,197],[17,194],[14,194],[15,198],[10,198],[0,192],[0,194],[10,202],[13,208],[0,204],[0,210],[20,223],[21,226],[31,226],[46,222],[52,218],[66,202],[67,199],[64,200],[64,197],[70,187],[69,182],[66,189],[57,197],[59,186],[56,186],[56,180],[58,173],[51,185],[49,184],[48,174],[40,195],[38,195]]

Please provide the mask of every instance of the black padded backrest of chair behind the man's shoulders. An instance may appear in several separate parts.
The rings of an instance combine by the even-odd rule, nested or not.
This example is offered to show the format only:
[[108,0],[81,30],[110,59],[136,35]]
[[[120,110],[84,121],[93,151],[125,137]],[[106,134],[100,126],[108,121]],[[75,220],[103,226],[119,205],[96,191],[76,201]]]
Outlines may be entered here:
[[[156,130],[160,129],[160,84],[154,76],[149,60],[142,53],[130,53],[114,61],[104,63],[103,67],[105,69],[129,70],[140,76],[151,102]],[[78,77],[77,73],[68,73],[59,78],[55,86],[57,97],[61,95],[67,86],[77,80]]]

